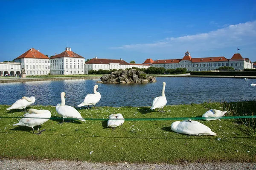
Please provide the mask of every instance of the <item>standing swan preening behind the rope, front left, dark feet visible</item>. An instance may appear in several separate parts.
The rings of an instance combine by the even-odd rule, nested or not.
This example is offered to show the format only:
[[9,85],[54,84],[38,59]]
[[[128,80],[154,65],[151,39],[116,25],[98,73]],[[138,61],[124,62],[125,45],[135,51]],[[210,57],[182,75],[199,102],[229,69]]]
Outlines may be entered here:
[[[44,130],[39,130],[39,125],[42,125],[44,122],[47,122],[51,118],[51,112],[48,110],[37,110],[37,109],[29,109],[29,113],[26,113],[23,115],[24,117],[20,119],[20,121],[13,126],[27,126],[31,127],[34,131],[34,126],[38,126],[38,133],[35,134],[41,134]],[[46,119],[42,119],[46,118]]]

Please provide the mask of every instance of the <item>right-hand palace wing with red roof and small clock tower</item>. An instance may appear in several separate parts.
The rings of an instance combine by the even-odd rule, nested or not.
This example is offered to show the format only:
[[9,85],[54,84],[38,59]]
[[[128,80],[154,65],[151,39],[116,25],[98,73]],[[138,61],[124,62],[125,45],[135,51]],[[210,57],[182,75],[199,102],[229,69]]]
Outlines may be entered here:
[[244,70],[244,68],[253,68],[253,63],[248,58],[243,58],[241,54],[236,53],[227,59],[225,57],[202,57],[192,58],[187,51],[182,59],[159,59],[153,61],[146,59],[144,64],[150,64],[152,67],[186,68],[187,71],[212,71],[221,66],[233,67],[235,70]]

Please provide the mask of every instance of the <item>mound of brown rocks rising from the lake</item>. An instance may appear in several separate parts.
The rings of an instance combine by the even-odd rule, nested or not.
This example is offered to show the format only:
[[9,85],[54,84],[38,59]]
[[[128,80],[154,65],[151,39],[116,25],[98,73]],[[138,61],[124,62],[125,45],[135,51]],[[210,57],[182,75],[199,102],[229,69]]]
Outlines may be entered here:
[[101,78],[101,81],[97,83],[148,83],[156,82],[156,78],[147,76],[143,71],[131,70],[118,70],[111,74],[105,74]]

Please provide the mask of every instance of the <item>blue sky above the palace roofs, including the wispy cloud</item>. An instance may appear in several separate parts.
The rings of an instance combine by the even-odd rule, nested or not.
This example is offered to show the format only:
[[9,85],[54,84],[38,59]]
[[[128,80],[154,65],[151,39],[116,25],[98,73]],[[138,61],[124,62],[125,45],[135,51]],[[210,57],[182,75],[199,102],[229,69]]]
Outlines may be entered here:
[[86,59],[231,58],[256,61],[255,0],[3,0],[0,61],[67,44]]

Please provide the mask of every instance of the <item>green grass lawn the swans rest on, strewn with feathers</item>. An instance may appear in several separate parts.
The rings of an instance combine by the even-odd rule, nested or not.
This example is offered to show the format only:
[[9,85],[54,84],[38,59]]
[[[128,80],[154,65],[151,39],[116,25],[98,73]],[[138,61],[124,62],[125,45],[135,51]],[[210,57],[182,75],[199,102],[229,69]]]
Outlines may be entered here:
[[[232,104],[203,103],[166,106],[165,113],[151,111],[150,107],[122,107],[79,110],[84,118],[108,118],[112,113],[122,113],[124,118],[197,117],[210,108],[232,109],[228,116],[255,113],[255,101]],[[0,116],[22,116],[19,110],[6,111],[0,105]],[[224,107],[224,108],[223,108]],[[218,136],[188,136],[170,129],[175,120],[125,121],[114,130],[107,128],[107,121],[74,120],[58,124],[61,118],[53,106],[30,106],[47,109],[52,118],[40,129],[41,135],[32,133],[30,127],[12,126],[19,118],[0,118],[0,157],[25,159],[65,159],[97,162],[150,162],[175,163],[205,161],[256,161],[254,128],[238,119],[221,119],[199,122],[207,125]],[[248,120],[254,123],[254,120]],[[252,122],[253,121],[253,122]],[[251,124],[250,124],[251,125]],[[35,128],[36,129],[36,128]],[[35,130],[36,131],[36,130]],[[218,138],[221,138],[218,140]],[[93,153],[90,154],[90,152]]]

